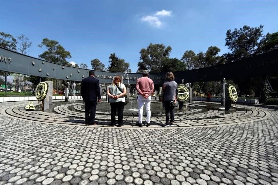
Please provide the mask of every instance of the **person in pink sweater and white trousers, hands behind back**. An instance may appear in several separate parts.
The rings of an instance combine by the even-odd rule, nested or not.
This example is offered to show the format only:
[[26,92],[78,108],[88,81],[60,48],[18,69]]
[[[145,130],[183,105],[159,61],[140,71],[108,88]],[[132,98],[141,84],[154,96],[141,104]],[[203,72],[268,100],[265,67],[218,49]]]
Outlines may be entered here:
[[147,127],[150,126],[151,119],[151,94],[153,93],[154,86],[153,80],[151,80],[149,76],[148,70],[143,70],[143,77],[137,79],[136,81],[136,90],[138,91],[138,123],[136,126],[142,127],[142,119],[143,119],[143,108],[144,103],[147,110]]

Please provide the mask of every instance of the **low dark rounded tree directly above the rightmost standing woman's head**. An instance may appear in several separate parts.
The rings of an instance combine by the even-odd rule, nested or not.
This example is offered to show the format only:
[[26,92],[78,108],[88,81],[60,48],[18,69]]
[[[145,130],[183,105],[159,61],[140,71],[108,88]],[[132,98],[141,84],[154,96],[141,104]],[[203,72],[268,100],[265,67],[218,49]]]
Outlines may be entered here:
[[160,72],[167,73],[168,71],[184,71],[186,64],[177,58],[167,58],[162,61],[162,69]]

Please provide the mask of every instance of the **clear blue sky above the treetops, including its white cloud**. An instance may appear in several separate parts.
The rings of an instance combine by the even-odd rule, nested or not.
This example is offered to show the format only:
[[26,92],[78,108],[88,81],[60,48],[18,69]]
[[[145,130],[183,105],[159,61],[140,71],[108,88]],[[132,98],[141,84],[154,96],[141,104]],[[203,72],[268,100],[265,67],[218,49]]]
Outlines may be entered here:
[[98,58],[106,67],[110,53],[137,70],[140,49],[150,43],[170,45],[171,58],[210,46],[228,51],[226,31],[264,25],[278,31],[278,1],[1,1],[0,32],[24,34],[38,57],[43,38],[58,41],[77,64]]

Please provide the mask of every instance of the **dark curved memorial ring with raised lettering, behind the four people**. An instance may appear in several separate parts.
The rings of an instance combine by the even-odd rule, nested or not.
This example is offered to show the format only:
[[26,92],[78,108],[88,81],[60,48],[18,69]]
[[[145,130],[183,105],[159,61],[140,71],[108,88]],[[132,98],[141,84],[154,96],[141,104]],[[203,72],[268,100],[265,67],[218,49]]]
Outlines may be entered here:
[[[175,81],[184,82],[208,82],[226,79],[242,79],[278,72],[278,49],[253,56],[237,62],[216,65],[201,69],[174,72]],[[82,81],[89,75],[89,69],[75,68],[48,62],[31,56],[23,55],[0,47],[0,70],[25,75]],[[114,75],[122,75],[125,84],[136,84],[136,79],[142,75],[138,73],[117,73],[107,71],[95,71],[100,83],[111,83]],[[152,73],[149,75],[155,84],[162,84],[164,73]]]

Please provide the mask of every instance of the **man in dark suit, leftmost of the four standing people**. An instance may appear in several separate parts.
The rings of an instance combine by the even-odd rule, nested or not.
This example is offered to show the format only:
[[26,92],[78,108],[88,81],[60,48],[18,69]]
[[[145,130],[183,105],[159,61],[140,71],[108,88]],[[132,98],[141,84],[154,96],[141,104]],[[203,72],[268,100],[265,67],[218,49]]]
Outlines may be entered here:
[[81,95],[85,102],[85,123],[88,125],[97,124],[95,121],[96,100],[98,99],[98,102],[101,102],[101,97],[99,80],[95,78],[94,71],[89,71],[89,77],[82,80]]

